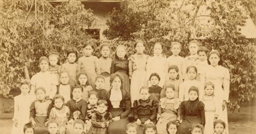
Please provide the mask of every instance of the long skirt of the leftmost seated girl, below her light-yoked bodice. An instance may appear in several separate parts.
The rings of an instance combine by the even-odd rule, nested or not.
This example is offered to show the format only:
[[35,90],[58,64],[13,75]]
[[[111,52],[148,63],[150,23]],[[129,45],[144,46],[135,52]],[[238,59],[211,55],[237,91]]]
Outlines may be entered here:
[[45,122],[47,120],[47,117],[44,116],[36,116],[35,117],[35,134],[44,134],[48,133],[47,128],[45,127]]

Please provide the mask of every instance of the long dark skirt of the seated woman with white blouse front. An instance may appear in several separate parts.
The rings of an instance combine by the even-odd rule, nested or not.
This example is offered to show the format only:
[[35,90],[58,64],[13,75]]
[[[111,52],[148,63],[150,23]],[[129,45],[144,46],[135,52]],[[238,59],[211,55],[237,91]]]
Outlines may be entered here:
[[[113,117],[119,116],[123,111],[111,111]],[[126,134],[125,128],[129,123],[128,117],[113,121],[108,126],[108,134]]]

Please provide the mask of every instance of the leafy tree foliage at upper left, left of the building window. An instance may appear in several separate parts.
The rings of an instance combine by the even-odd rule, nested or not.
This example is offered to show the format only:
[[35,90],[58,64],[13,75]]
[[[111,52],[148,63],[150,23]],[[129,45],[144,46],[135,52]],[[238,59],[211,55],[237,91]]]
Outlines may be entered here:
[[0,91],[6,95],[24,79],[24,67],[30,76],[39,71],[41,56],[57,52],[64,61],[67,48],[81,51],[96,17],[77,0],[55,7],[46,0],[3,0],[0,20]]

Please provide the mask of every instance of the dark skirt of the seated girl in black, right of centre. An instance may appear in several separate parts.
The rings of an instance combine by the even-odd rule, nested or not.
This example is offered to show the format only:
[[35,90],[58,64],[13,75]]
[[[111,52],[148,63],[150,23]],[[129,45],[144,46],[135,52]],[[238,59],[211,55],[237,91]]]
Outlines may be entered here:
[[189,129],[194,123],[201,124],[201,119],[197,116],[186,116],[179,126],[179,134],[191,134]]

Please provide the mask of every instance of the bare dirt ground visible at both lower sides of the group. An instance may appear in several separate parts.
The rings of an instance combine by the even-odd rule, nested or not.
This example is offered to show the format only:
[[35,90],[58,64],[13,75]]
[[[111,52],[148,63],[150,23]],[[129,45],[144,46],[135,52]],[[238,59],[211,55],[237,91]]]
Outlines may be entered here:
[[[0,134],[11,134],[13,113],[4,113],[13,106],[13,99],[0,98]],[[228,113],[230,134],[256,134],[256,105],[243,105],[240,112]]]

